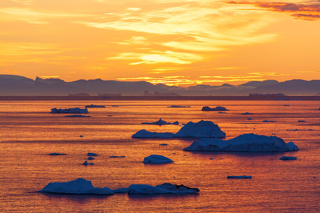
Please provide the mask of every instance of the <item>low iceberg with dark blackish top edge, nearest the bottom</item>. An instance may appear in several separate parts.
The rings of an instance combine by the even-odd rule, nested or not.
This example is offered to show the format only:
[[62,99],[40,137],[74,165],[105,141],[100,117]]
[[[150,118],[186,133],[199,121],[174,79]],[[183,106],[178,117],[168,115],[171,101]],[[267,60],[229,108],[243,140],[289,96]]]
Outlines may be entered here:
[[164,183],[161,185],[146,185],[146,184],[132,184],[129,186],[129,194],[184,194],[184,193],[198,193],[198,188],[190,188],[184,185],[176,185],[170,183]]

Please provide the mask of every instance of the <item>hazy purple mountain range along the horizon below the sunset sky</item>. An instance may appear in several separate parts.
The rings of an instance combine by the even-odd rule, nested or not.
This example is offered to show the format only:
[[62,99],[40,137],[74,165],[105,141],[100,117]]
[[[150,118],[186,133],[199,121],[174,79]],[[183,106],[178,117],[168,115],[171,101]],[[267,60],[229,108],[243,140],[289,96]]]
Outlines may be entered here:
[[[146,81],[104,81],[100,78],[94,80],[77,80],[65,82],[59,78],[35,80],[19,75],[0,75],[1,96],[68,96],[68,94],[88,93],[91,96],[101,94],[118,94],[123,96],[141,96],[145,91],[150,95],[182,95],[182,96],[238,96],[250,93],[285,95],[315,95],[320,91],[320,80],[289,80],[278,82],[276,80],[250,81],[240,85],[224,83],[222,85],[195,85],[189,87],[169,86],[166,84],[152,84]],[[150,94],[151,93],[151,94]]]

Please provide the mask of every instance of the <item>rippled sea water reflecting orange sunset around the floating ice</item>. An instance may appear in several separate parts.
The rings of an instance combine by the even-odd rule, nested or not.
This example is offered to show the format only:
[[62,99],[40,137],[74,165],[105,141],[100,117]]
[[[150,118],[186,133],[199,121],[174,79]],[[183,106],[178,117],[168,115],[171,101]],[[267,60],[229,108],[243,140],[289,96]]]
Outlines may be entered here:
[[[53,107],[84,108],[87,104],[106,108],[88,108],[90,118],[49,114]],[[191,108],[167,108],[171,105]],[[202,106],[225,106],[230,111],[202,112]],[[319,101],[2,101],[0,212],[320,212],[319,107]],[[242,115],[244,112],[254,114]],[[251,121],[247,120],[249,117]],[[276,133],[286,142],[293,141],[300,150],[187,152],[182,149],[196,138],[131,138],[141,129],[177,132],[181,128],[140,124],[159,118],[180,123],[213,121],[227,133],[226,139],[244,133]],[[162,143],[169,146],[159,146]],[[67,155],[48,155],[53,152]],[[81,165],[88,152],[99,156],[90,161],[94,165]],[[167,156],[174,163],[143,164],[143,158],[150,154]],[[125,158],[109,158],[111,155]],[[283,155],[296,156],[298,160],[279,160]],[[252,175],[252,179],[227,179],[228,175]],[[78,177],[91,180],[95,187],[115,189],[169,182],[197,187],[200,193],[36,193],[49,182]]]

